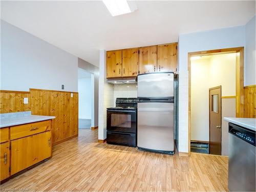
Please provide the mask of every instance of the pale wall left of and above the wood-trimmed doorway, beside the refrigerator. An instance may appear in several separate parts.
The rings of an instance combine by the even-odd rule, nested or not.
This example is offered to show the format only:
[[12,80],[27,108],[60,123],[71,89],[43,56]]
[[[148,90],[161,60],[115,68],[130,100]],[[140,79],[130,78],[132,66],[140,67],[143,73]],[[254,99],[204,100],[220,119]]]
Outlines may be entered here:
[[245,27],[233,27],[179,36],[179,152],[188,152],[189,52],[245,46]]

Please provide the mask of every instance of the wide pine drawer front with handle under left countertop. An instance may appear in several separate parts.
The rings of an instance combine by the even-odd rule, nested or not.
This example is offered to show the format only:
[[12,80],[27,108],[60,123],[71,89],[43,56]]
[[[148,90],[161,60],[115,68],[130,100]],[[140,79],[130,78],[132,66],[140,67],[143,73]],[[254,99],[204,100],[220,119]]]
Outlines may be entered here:
[[51,120],[11,126],[10,138],[18,139],[51,130]]

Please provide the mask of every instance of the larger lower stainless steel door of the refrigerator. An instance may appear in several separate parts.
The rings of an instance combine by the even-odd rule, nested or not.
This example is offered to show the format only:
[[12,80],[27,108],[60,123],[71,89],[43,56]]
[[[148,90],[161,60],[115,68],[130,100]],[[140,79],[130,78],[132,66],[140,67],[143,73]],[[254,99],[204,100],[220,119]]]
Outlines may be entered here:
[[138,103],[137,146],[174,151],[174,103]]

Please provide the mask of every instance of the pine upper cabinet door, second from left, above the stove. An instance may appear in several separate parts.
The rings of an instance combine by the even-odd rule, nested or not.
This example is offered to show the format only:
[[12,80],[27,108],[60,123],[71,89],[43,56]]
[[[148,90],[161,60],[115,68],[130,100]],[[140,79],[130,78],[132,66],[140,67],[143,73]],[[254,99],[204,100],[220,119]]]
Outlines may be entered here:
[[135,77],[138,74],[138,49],[122,51],[122,76]]

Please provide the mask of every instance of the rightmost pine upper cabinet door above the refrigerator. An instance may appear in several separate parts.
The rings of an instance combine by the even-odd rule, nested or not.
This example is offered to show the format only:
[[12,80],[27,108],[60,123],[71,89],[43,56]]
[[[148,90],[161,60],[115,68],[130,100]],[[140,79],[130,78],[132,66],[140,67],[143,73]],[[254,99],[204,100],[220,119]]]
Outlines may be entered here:
[[157,47],[157,71],[176,71],[177,44],[160,45]]

